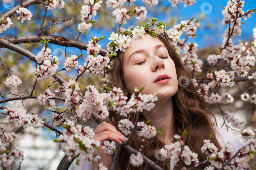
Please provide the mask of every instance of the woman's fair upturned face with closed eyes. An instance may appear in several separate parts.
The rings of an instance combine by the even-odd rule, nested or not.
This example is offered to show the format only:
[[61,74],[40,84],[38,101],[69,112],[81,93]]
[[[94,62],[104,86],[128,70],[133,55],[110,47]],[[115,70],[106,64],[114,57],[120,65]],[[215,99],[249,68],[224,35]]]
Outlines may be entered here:
[[[139,50],[139,51],[137,51]],[[135,53],[134,53],[135,52]],[[167,58],[160,58],[166,57]],[[168,54],[167,48],[157,38],[144,34],[131,40],[123,55],[124,82],[129,94],[133,88],[146,85],[142,94],[159,94],[162,98],[172,97],[178,90],[176,68]],[[157,76],[167,74],[169,81],[163,84],[154,83]],[[124,89],[125,90],[125,89]]]

